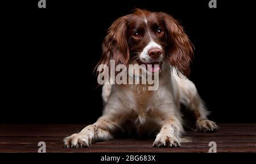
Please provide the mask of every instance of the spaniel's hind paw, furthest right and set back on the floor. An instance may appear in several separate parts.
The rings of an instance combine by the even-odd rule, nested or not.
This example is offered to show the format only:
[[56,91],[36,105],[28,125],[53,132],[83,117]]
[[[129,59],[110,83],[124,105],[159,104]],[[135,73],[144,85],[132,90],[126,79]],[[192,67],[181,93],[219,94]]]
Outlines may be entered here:
[[218,126],[211,120],[200,120],[196,123],[196,131],[198,132],[213,132]]

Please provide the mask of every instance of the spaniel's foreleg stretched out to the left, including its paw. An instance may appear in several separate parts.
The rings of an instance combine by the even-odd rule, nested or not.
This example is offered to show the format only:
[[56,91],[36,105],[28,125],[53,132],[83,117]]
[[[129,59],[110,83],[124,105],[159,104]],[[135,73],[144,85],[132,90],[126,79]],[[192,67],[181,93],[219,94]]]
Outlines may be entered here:
[[114,122],[108,115],[101,116],[96,123],[86,126],[81,132],[65,137],[65,148],[88,147],[97,141],[113,139],[112,132],[117,130],[118,122]]

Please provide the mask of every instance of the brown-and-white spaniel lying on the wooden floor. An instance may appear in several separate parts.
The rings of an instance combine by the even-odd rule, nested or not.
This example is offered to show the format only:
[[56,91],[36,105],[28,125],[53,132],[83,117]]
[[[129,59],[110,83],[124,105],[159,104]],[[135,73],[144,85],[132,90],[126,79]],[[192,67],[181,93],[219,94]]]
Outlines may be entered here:
[[104,84],[104,111],[97,122],[65,137],[65,148],[89,146],[112,140],[122,130],[135,129],[139,136],[157,134],[152,146],[176,147],[185,141],[180,106],[195,119],[195,130],[215,131],[209,112],[192,81],[189,64],[193,45],[183,27],[171,15],[136,9],[114,21],[102,44],[98,64],[154,64],[149,72],[158,74],[159,87]]

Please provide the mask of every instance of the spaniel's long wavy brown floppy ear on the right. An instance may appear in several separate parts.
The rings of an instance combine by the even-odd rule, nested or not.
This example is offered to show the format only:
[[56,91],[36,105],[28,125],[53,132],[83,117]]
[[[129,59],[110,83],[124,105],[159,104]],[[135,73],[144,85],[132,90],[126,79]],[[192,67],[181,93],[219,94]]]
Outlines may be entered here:
[[171,15],[160,12],[168,33],[168,58],[171,66],[183,75],[189,75],[189,64],[193,57],[193,46],[183,27]]

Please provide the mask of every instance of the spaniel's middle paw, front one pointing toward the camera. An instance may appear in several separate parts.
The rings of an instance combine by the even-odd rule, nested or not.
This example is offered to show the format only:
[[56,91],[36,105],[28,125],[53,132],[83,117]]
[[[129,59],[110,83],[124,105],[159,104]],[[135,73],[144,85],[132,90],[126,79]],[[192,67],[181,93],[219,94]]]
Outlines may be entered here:
[[172,134],[158,134],[153,144],[154,147],[177,147],[181,146],[181,140]]

